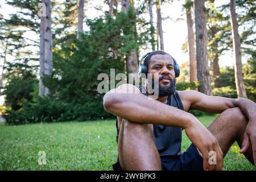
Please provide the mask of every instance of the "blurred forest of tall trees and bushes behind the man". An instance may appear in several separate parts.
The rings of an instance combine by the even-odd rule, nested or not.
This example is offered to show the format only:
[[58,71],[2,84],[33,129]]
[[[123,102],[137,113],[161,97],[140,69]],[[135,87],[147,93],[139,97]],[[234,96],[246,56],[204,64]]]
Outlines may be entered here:
[[[177,3],[180,18],[163,13]],[[254,0],[5,0],[0,5],[0,115],[6,123],[113,118],[102,105],[104,94],[97,92],[97,76],[110,75],[110,68],[115,74],[136,73],[139,57],[157,49],[170,51],[180,65],[177,90],[256,101]],[[94,18],[89,10],[96,12]],[[180,47],[164,37],[179,34],[179,26],[163,27],[167,21],[185,23],[187,38]],[[169,44],[187,58],[177,59]]]

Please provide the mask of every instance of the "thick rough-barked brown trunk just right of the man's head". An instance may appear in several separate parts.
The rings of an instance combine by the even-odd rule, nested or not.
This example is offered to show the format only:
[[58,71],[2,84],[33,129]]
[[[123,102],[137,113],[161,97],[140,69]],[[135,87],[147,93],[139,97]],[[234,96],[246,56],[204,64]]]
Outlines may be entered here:
[[200,81],[199,92],[212,96],[210,86],[210,74],[207,52],[207,28],[205,18],[204,0],[197,0],[195,3],[195,26],[196,26],[196,60],[197,79]]

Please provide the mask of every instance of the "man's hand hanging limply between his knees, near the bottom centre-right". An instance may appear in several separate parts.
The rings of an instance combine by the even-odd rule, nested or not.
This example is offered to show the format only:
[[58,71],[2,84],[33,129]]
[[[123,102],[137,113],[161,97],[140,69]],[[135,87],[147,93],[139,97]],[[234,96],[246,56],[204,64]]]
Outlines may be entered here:
[[[189,123],[185,128],[185,133],[193,144],[203,154],[204,170],[221,171],[223,167],[223,153],[218,145],[217,139],[204,127],[197,119]],[[216,152],[217,164],[209,164],[209,152]]]

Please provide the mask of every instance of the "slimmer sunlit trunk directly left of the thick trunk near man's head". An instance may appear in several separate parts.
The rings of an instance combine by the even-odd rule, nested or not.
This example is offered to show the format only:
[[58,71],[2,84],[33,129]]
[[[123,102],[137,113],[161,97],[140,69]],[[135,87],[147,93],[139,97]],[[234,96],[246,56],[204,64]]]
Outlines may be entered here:
[[[186,3],[188,0],[186,0]],[[195,38],[193,32],[193,20],[191,17],[191,7],[186,8],[187,26],[188,26],[188,48],[189,48],[189,75],[190,81],[196,81],[196,53],[195,53]]]

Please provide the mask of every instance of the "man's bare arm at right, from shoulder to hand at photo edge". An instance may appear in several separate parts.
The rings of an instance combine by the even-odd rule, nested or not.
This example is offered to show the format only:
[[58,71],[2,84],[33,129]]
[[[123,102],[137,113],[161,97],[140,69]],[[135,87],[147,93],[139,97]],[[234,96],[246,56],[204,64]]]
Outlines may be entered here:
[[248,119],[240,152],[246,152],[251,144],[254,164],[256,166],[256,104],[253,101],[246,98],[233,99],[207,96],[194,90],[180,92],[179,95],[181,100],[184,100],[187,108],[208,111],[209,113],[221,113],[226,109],[240,107]]

